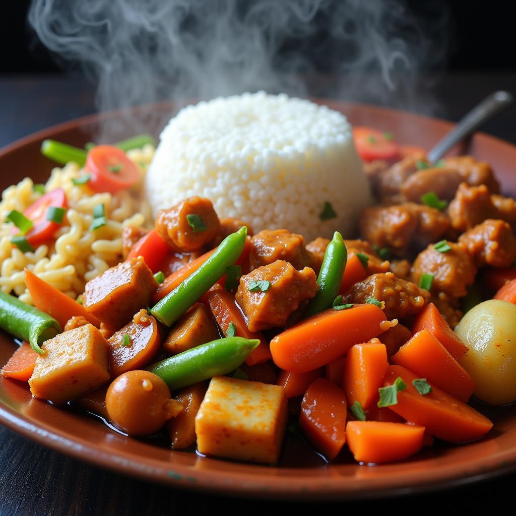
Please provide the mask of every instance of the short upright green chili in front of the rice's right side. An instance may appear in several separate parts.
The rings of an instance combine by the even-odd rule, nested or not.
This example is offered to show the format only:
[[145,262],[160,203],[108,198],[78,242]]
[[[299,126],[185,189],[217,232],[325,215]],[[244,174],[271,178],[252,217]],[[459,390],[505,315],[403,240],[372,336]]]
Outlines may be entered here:
[[348,252],[342,235],[335,231],[322,259],[321,270],[317,277],[319,290],[308,304],[305,316],[315,315],[332,307],[341,287],[342,276],[348,260]]

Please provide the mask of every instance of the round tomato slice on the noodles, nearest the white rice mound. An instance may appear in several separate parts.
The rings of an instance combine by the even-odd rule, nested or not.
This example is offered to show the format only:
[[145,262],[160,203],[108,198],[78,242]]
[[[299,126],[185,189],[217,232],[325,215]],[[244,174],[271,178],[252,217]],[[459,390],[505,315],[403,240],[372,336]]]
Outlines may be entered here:
[[140,179],[136,165],[118,147],[97,145],[88,151],[84,169],[91,174],[88,186],[96,192],[115,193]]

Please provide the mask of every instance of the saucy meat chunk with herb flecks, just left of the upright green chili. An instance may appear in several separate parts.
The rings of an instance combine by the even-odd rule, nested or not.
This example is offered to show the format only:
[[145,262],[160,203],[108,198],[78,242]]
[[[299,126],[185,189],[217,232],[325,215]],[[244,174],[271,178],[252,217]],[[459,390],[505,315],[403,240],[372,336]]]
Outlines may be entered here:
[[[251,281],[268,281],[265,292],[249,291]],[[236,301],[247,317],[250,331],[283,327],[299,304],[315,296],[317,290],[315,272],[310,267],[296,270],[292,264],[276,262],[254,269],[240,278]]]

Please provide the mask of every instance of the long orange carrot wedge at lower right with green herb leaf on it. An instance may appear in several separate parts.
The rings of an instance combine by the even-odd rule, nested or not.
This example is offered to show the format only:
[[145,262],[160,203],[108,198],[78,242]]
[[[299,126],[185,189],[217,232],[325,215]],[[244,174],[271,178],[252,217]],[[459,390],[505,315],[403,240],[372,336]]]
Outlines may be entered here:
[[418,377],[405,367],[391,365],[384,385],[400,377],[407,388],[398,392],[398,402],[389,408],[410,423],[421,425],[434,437],[452,443],[473,441],[485,435],[493,424],[469,405],[433,386],[433,392],[422,396],[412,381]]

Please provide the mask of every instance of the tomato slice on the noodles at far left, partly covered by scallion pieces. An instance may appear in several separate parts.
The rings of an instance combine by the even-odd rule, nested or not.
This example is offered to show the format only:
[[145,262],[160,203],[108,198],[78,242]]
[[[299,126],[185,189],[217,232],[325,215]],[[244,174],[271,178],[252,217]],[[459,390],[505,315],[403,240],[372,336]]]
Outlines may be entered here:
[[[36,202],[31,204],[23,215],[33,222],[33,227],[25,234],[25,239],[34,248],[50,240],[61,224],[46,219],[49,208],[68,208],[65,190],[56,188],[45,193]],[[12,231],[13,235],[20,233],[18,228]]]

